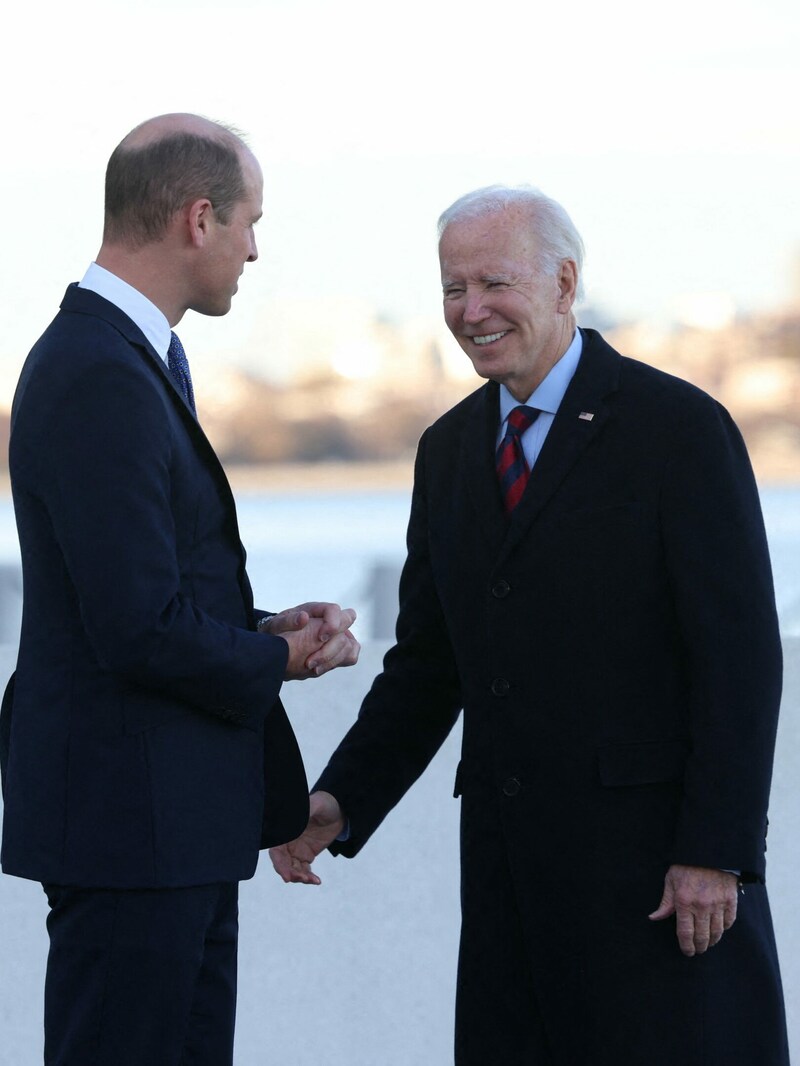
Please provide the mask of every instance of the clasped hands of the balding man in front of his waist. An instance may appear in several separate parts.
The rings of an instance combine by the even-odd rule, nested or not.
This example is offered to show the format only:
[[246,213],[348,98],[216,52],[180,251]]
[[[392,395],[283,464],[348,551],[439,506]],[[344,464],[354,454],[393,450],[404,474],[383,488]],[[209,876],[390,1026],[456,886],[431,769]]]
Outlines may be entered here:
[[336,666],[353,666],[361,645],[350,632],[352,608],[338,603],[301,603],[270,618],[262,632],[283,636],[289,645],[286,680],[321,677]]

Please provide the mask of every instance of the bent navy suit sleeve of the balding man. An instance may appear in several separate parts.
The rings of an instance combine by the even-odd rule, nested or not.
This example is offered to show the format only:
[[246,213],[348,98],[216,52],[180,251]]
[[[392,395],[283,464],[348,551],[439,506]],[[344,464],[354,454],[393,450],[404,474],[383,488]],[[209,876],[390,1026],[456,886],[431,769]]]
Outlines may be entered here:
[[256,728],[288,647],[226,625],[181,592],[173,500],[175,422],[146,367],[109,358],[50,408],[38,484],[85,633],[132,682]]

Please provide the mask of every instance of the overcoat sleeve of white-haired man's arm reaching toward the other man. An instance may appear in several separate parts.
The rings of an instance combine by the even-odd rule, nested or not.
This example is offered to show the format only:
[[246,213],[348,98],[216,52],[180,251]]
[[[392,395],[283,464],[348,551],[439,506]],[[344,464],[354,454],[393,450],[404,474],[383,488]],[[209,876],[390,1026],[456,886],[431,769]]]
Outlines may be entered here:
[[458,671],[428,550],[426,441],[417,453],[397,643],[315,789],[335,795],[355,855],[436,754],[461,710]]

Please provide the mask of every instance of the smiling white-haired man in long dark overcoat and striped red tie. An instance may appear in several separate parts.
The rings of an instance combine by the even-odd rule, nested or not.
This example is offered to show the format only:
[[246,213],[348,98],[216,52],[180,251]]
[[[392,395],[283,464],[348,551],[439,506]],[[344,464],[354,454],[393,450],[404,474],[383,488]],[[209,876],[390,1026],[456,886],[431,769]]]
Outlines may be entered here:
[[463,708],[459,1066],[786,1066],[781,645],[741,437],[576,327],[558,204],[479,190],[439,233],[489,381],[422,436],[397,644],[273,862],[319,884],[323,847],[356,854]]

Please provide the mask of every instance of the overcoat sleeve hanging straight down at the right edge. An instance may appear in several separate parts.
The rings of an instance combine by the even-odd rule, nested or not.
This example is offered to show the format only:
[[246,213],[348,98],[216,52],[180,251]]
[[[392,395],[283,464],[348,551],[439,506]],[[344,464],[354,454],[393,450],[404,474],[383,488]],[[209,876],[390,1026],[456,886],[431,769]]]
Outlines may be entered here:
[[745,443],[727,413],[705,401],[677,426],[660,496],[690,690],[674,860],[763,879],[781,643]]

